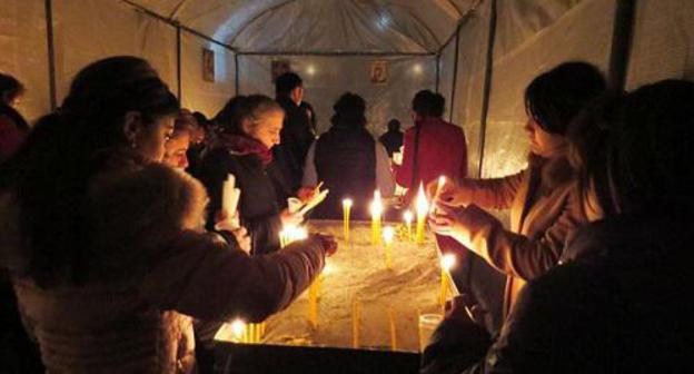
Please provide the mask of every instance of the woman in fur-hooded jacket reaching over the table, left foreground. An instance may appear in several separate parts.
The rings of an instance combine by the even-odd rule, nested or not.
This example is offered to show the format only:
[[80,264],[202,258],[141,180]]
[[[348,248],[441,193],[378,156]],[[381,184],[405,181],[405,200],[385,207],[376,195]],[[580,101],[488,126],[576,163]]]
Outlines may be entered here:
[[178,110],[147,61],[103,59],[0,168],[0,262],[49,372],[192,372],[189,316],[261,321],[335,249],[250,258],[204,233],[204,187],[161,164]]

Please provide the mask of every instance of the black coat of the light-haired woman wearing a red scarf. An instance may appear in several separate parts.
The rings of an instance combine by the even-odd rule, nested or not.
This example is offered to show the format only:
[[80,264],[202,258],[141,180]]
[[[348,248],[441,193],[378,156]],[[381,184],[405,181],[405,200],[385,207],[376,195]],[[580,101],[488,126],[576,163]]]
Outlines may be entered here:
[[211,150],[196,175],[210,197],[207,228],[215,226],[215,213],[221,208],[221,189],[227,175],[236,177],[240,188],[239,214],[251,238],[251,254],[266,254],[279,248],[281,223],[279,211],[287,207],[291,188],[276,161],[264,167],[255,155],[235,155],[227,148]]

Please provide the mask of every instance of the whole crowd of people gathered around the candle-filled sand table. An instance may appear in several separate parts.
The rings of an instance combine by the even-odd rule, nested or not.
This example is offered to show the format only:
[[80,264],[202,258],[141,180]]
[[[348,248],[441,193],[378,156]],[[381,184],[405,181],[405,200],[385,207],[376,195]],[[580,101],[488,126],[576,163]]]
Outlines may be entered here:
[[[276,79],[274,99],[237,96],[211,119],[180,108],[135,57],[82,69],[31,127],[14,109],[23,91],[0,75],[0,280],[12,322],[0,357],[18,371],[43,370],[30,362],[36,342],[49,372],[209,372],[206,332],[287,307],[337,250],[321,234],[279,250],[282,227],[308,218],[288,198],[308,201],[319,184],[330,190],[311,213],[320,219],[396,184],[407,207],[424,186],[440,250],[474,253],[507,277],[500,332],[484,327],[486,295],[462,289],[423,373],[686,364],[694,83],[621,92],[586,62],[545,71],[525,90],[528,165],[493,179],[467,175],[464,131],[429,90],[412,100],[412,127],[394,119],[379,138],[354,92],[317,136],[294,72]],[[228,175],[238,211],[222,208]],[[368,217],[361,206],[355,218]]]

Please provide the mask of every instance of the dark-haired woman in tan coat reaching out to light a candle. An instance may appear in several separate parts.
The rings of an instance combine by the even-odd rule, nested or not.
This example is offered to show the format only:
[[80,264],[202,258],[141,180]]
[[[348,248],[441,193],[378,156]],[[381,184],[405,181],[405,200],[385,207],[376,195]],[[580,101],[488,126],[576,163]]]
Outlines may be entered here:
[[[566,238],[585,223],[566,160],[566,129],[604,89],[602,73],[585,62],[565,62],[539,75],[525,90],[529,166],[502,178],[447,184],[440,194],[434,229],[507,276],[504,315],[525,282],[556,266]],[[485,209],[510,209],[510,229]]]

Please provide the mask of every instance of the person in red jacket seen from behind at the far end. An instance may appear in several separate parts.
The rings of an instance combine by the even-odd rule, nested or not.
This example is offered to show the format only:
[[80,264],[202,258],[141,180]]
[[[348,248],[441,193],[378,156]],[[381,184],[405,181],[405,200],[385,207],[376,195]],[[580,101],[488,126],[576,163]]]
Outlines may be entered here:
[[403,165],[394,165],[398,185],[408,188],[405,204],[425,185],[446,176],[467,176],[467,145],[463,129],[442,119],[446,99],[430,90],[422,90],[412,102],[415,126],[405,131]]

